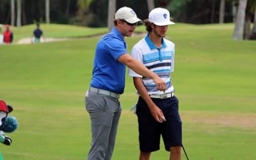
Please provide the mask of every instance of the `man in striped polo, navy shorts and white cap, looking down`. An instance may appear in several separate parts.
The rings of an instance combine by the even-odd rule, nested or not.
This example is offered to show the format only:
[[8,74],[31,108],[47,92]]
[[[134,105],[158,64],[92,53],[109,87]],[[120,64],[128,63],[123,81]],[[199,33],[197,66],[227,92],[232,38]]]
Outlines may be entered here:
[[[179,100],[174,96],[171,72],[174,70],[173,42],[164,36],[170,21],[170,13],[164,8],[155,8],[144,20],[148,35],[132,48],[132,57],[155,72],[166,84],[165,92],[157,90],[152,79],[129,69],[134,86],[140,95],[136,104],[139,123],[140,160],[149,160],[150,153],[159,150],[160,137],[170,152],[170,159],[180,160],[182,146],[182,122],[179,115]],[[156,113],[163,113],[157,118]]]

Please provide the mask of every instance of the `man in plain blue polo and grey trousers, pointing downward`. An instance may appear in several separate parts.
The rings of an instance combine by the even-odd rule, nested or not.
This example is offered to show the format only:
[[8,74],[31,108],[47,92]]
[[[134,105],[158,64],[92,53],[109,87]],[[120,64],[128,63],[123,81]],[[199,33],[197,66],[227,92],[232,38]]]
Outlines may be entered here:
[[[164,81],[127,52],[125,36],[131,36],[140,21],[129,7],[115,14],[115,27],[103,36],[96,47],[93,75],[86,92],[86,110],[91,118],[92,143],[88,159],[109,160],[113,154],[121,105],[118,100],[124,93],[125,65],[138,74],[154,81],[157,90],[164,91]],[[157,113],[159,118],[163,115]]]

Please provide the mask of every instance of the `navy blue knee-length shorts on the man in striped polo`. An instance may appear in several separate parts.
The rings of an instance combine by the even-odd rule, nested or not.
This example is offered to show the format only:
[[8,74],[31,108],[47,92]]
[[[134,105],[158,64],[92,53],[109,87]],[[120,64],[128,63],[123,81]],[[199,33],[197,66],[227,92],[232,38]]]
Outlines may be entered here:
[[170,147],[182,146],[182,122],[179,115],[179,100],[177,97],[154,99],[153,102],[164,113],[166,122],[159,123],[151,115],[147,103],[140,97],[136,114],[139,123],[139,140],[141,152],[154,152],[160,148],[161,135],[165,150]]

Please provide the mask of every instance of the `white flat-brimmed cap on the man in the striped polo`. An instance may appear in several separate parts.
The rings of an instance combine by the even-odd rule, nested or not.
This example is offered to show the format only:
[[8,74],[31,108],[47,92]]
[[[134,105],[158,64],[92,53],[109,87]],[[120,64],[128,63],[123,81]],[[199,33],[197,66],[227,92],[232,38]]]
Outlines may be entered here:
[[148,20],[157,26],[175,24],[170,21],[170,12],[164,8],[155,8],[152,10],[148,15]]

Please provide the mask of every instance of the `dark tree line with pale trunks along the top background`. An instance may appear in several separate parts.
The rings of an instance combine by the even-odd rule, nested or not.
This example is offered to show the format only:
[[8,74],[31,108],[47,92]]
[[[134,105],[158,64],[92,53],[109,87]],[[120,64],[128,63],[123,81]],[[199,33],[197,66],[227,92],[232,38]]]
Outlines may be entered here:
[[116,8],[122,6],[134,9],[140,19],[147,19],[152,8],[163,7],[175,22],[234,22],[234,40],[256,35],[256,0],[0,0],[0,24],[51,22],[111,28]]

